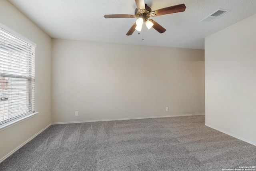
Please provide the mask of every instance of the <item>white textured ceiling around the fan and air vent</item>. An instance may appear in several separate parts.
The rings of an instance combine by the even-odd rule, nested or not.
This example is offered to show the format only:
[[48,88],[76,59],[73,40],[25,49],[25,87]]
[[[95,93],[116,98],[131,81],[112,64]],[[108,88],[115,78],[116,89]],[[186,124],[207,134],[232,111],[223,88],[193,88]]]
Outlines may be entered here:
[[[52,38],[204,49],[204,38],[256,14],[256,0],[145,0],[152,10],[185,4],[186,11],[151,17],[166,32],[146,27],[126,36],[136,18],[105,19],[104,14],[134,14],[134,0],[9,0]],[[219,8],[231,10],[211,23],[200,22]],[[142,40],[142,37],[144,40]]]

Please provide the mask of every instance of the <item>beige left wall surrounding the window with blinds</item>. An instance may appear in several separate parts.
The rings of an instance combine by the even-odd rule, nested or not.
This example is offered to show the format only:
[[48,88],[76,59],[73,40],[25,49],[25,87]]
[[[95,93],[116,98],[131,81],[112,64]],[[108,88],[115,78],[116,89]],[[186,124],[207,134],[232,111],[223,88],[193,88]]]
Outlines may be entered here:
[[0,160],[51,123],[51,38],[7,0],[0,0],[0,23],[36,43],[36,111],[0,131]]

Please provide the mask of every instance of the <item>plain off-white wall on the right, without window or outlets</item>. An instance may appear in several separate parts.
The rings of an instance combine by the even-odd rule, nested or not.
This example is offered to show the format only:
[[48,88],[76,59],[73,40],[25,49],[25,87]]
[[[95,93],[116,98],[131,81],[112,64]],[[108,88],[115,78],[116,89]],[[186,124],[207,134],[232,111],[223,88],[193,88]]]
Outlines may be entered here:
[[256,145],[256,15],[205,39],[206,124]]

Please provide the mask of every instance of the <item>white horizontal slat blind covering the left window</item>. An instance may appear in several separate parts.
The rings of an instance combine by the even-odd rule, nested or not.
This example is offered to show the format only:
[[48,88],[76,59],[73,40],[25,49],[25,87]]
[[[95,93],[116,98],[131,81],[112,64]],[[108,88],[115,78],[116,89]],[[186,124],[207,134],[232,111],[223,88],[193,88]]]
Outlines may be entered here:
[[35,46],[0,28],[0,125],[35,110]]

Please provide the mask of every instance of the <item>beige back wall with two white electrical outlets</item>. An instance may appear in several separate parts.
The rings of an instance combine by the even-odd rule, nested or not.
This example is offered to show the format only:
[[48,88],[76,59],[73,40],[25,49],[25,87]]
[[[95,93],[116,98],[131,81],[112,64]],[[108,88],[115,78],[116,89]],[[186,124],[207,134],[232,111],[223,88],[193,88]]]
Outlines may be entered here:
[[52,122],[205,112],[204,50],[52,43]]

